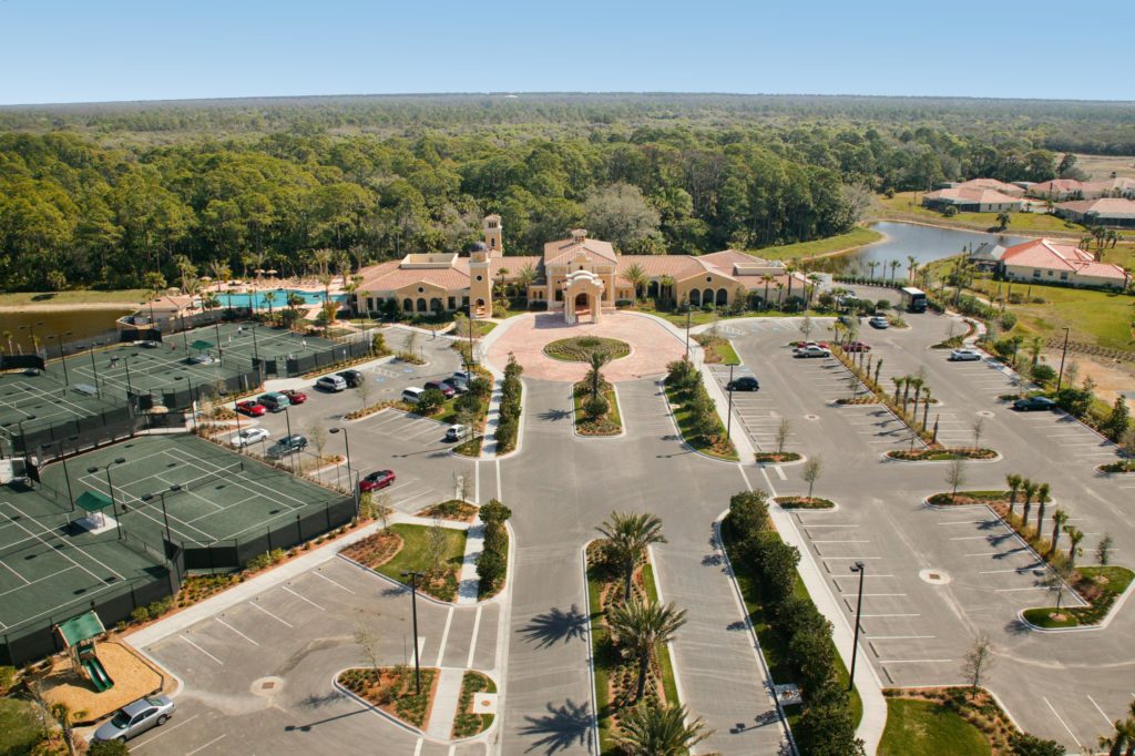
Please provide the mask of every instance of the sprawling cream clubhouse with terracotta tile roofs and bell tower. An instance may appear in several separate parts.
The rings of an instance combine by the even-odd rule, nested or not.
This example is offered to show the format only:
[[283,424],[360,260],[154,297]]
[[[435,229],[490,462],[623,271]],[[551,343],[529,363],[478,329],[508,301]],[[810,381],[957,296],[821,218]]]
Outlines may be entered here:
[[406,313],[428,314],[469,310],[474,318],[493,314],[494,285],[523,285],[528,301],[546,302],[568,322],[599,320],[634,300],[640,278],[644,294],[691,306],[726,308],[758,292],[780,301],[802,296],[808,285],[784,263],[725,250],[700,257],[687,254],[623,255],[608,242],[590,238],[578,228],[568,238],[548,242],[540,255],[504,255],[501,216],[487,216],[485,241],[466,257],[456,252],[407,254],[363,268],[353,294],[356,312],[377,312],[394,303]]

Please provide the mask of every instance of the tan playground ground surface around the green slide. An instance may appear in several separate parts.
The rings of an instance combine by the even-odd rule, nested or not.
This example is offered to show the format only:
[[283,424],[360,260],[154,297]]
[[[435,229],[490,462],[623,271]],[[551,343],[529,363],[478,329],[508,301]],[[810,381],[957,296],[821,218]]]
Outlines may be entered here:
[[173,678],[159,672],[149,662],[123,644],[108,641],[96,646],[99,661],[115,687],[99,692],[85,674],[72,669],[70,658],[56,661],[45,677],[40,678],[43,699],[49,704],[66,704],[78,724],[92,723],[132,700],[157,690],[170,690]]

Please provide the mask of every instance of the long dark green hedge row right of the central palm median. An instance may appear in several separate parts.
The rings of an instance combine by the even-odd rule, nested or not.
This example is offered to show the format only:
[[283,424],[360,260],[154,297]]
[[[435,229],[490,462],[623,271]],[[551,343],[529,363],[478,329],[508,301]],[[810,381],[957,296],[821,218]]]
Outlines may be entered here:
[[847,692],[832,624],[800,580],[799,552],[773,528],[765,492],[735,494],[721,536],[773,682],[799,687],[802,703],[782,706],[797,748],[859,753],[855,730],[863,704],[857,691]]

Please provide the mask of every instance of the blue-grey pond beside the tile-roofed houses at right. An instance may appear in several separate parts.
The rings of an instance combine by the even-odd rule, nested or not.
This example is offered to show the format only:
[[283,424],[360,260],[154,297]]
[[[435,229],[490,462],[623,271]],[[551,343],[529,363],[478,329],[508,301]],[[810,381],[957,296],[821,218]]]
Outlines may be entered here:
[[986,234],[893,221],[880,221],[872,228],[884,234],[886,238],[849,254],[817,260],[817,267],[829,272],[854,274],[858,271],[871,275],[867,263],[877,262],[878,267],[875,269],[875,274],[882,278],[884,268],[888,268],[889,275],[889,263],[892,260],[898,260],[900,263],[897,272],[905,274],[908,255],[913,257],[918,264],[924,264],[958,254],[970,246],[976,249],[984,242],[1012,246],[1028,241],[1024,236]]

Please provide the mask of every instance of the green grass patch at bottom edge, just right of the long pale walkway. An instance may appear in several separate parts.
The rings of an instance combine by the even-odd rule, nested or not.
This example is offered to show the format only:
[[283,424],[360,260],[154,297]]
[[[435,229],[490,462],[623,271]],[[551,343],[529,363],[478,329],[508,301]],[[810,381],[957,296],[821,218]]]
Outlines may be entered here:
[[886,729],[878,756],[982,756],[990,754],[982,731],[942,704],[886,699]]

